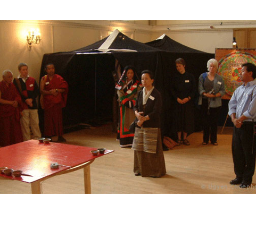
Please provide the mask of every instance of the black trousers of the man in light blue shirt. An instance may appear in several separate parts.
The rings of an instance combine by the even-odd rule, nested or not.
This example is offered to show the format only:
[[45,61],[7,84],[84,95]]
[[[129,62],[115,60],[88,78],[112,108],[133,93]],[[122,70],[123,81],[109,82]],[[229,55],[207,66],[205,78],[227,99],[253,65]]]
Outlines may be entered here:
[[235,174],[236,177],[241,177],[243,181],[250,183],[255,170],[255,140],[252,123],[244,122],[240,129],[234,127],[232,155]]

